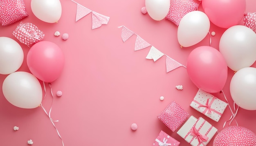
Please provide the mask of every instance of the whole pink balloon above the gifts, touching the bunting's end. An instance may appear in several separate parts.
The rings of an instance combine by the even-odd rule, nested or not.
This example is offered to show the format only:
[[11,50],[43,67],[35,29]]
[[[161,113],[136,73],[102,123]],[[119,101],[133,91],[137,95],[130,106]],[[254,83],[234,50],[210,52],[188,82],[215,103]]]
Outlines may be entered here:
[[191,81],[203,91],[217,93],[227,80],[227,63],[211,46],[200,46],[189,54],[187,72]]

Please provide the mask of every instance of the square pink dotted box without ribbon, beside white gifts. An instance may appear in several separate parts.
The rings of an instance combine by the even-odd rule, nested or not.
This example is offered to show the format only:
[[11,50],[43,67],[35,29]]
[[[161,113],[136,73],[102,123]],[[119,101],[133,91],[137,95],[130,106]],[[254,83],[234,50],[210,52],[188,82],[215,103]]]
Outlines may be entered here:
[[172,101],[157,117],[174,132],[189,117],[189,113]]

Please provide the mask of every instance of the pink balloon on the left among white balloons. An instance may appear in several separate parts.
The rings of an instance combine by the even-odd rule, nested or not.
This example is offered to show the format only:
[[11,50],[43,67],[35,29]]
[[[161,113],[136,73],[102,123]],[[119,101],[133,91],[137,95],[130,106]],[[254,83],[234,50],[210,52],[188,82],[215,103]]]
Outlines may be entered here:
[[53,82],[63,70],[63,52],[53,42],[38,42],[27,53],[27,66],[39,80],[47,83]]

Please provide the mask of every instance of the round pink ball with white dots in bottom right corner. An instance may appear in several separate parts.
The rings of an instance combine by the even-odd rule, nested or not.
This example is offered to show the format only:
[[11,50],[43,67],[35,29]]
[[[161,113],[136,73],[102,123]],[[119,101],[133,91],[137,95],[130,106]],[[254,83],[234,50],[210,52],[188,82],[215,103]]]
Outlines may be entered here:
[[213,146],[256,146],[256,135],[245,127],[229,126],[216,135]]

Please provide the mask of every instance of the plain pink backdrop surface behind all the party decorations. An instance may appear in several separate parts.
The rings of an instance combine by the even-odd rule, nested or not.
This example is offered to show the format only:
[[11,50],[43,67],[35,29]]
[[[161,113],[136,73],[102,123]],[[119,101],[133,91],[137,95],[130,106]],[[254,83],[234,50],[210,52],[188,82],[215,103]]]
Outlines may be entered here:
[[[213,126],[222,130],[222,126],[231,116],[226,108],[219,122],[202,115],[189,105],[198,88],[189,79],[186,68],[180,67],[166,73],[165,57],[156,62],[146,59],[150,47],[134,51],[136,35],[123,42],[121,25],[137,33],[141,38],[159,51],[186,66],[186,58],[197,46],[209,45],[209,35],[202,42],[189,48],[180,48],[177,42],[177,26],[169,20],[155,21],[148,14],[141,13],[145,0],[76,0],[79,4],[109,16],[107,25],[92,30],[92,14],[75,22],[76,3],[61,0],[62,16],[58,23],[49,24],[35,17],[31,12],[31,0],[24,0],[29,17],[22,22],[31,22],[45,33],[44,40],[52,41],[61,47],[65,54],[65,66],[61,76],[52,82],[54,103],[52,118],[65,146],[150,146],[161,130],[178,141],[181,146],[189,146],[177,130],[172,132],[157,115],[175,100],[190,115],[203,117]],[[256,1],[246,0],[246,12],[256,12]],[[200,9],[202,7],[200,5]],[[0,36],[18,40],[12,35],[20,23],[6,27],[0,26]],[[243,23],[240,23],[243,24]],[[211,24],[211,46],[218,49],[220,36],[226,29]],[[68,33],[68,40],[55,37],[54,32]],[[196,34],[195,34],[196,35]],[[24,62],[18,71],[29,69],[26,55],[29,48],[21,44]],[[253,65],[256,67],[256,64]],[[232,104],[229,83],[234,71],[228,70],[228,79],[223,91]],[[7,75],[0,75],[0,88]],[[42,82],[41,82],[42,83]],[[175,86],[182,85],[183,90]],[[62,91],[62,97],[56,97],[56,91]],[[214,94],[225,100],[223,94]],[[159,100],[164,96],[163,101]],[[47,95],[43,106],[49,111],[51,94],[47,86]],[[236,120],[240,126],[256,133],[256,111],[239,109]],[[137,123],[137,131],[130,126]],[[232,122],[231,125],[235,125]],[[13,126],[20,130],[13,131]],[[227,126],[227,125],[226,125]],[[62,146],[61,139],[41,107],[22,109],[11,105],[0,90],[0,145],[27,146],[32,139],[34,146]],[[209,143],[211,145],[213,139]]]

